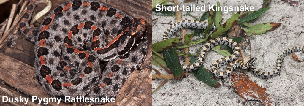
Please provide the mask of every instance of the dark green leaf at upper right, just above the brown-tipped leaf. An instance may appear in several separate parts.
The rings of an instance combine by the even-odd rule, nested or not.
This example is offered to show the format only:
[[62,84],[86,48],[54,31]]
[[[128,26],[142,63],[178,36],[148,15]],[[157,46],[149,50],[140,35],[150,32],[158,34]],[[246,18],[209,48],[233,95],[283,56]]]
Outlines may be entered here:
[[261,8],[261,9],[257,10],[256,12],[252,12],[251,14],[245,15],[242,18],[240,18],[240,20],[237,23],[240,24],[240,23],[243,23],[243,22],[252,21],[252,20],[256,19],[257,17],[259,17],[260,15],[262,15],[268,9],[270,9],[270,7]]

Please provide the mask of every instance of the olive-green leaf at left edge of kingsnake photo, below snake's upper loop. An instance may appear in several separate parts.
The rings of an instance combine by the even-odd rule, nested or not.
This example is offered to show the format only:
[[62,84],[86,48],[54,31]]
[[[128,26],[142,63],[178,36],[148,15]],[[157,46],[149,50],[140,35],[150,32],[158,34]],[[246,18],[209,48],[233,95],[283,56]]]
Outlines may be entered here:
[[170,38],[167,40],[163,40],[157,43],[152,44],[152,50],[155,52],[161,52],[164,50],[168,50],[172,48],[174,45],[177,45],[182,38]]

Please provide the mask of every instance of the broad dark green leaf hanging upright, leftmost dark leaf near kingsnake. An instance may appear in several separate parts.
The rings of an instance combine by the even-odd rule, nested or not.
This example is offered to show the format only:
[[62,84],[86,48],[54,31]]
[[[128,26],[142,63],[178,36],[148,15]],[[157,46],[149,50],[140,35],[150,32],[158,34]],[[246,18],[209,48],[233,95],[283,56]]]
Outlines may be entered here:
[[184,71],[178,59],[178,54],[173,48],[165,50],[163,52],[163,56],[166,61],[167,67],[169,67],[175,79],[180,79],[180,77],[184,76]]

